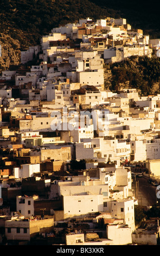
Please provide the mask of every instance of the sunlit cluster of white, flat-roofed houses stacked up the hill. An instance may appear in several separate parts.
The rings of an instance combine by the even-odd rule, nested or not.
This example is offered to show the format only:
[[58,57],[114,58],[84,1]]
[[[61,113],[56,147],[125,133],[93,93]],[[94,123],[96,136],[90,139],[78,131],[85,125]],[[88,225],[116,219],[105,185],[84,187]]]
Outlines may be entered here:
[[[106,90],[103,68],[104,63],[133,55],[151,57],[152,50],[159,57],[159,39],[150,40],[125,19],[87,18],[53,28],[40,45],[21,52],[22,64],[34,57],[39,64],[2,72],[1,208],[7,193],[16,198],[16,215],[10,211],[0,216],[7,240],[56,234],[64,227],[73,228],[71,220],[77,219],[88,229],[66,234],[67,245],[157,243],[159,225],[156,233],[154,229],[145,240],[138,240],[134,212],[138,203],[131,170],[123,163],[140,161],[146,167],[150,163],[152,175],[160,176],[160,95]],[[15,86],[7,87],[12,78]],[[78,175],[69,173],[72,160],[85,160],[86,168]],[[61,170],[65,175],[59,179]],[[49,173],[47,178],[42,178],[43,171]],[[18,182],[25,186],[32,178],[34,184],[43,179],[47,199],[36,191],[34,196],[20,193]],[[37,211],[43,200],[52,202],[47,214],[44,206]],[[101,219],[105,230],[99,228]]]

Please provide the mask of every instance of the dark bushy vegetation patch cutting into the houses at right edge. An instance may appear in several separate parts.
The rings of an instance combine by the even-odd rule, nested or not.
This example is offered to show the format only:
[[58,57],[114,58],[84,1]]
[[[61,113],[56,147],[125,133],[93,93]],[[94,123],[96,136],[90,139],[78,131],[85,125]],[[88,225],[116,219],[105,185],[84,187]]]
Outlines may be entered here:
[[122,62],[110,64],[105,71],[111,75],[106,79],[106,88],[116,86],[136,88],[140,95],[160,93],[160,59],[157,57],[131,56]]

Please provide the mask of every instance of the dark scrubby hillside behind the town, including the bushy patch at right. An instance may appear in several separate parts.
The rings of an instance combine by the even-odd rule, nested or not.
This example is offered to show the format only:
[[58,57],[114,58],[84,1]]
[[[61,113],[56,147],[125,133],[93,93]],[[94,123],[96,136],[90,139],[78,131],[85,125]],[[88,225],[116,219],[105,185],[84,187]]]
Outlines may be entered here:
[[[156,8],[157,7],[157,8]],[[51,29],[79,19],[93,20],[123,17],[133,28],[143,29],[150,38],[160,38],[159,8],[156,0],[1,0],[0,2],[0,73],[10,65],[20,64],[21,51],[39,44]],[[141,94],[160,92],[159,59],[133,57],[105,69],[105,85],[128,84]],[[152,71],[151,71],[152,70]]]

